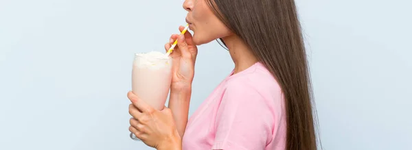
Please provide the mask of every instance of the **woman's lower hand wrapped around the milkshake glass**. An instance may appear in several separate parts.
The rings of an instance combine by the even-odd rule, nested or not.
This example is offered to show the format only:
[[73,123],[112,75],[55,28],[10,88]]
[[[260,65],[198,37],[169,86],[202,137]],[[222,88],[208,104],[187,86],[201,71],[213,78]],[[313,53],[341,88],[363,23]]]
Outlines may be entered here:
[[[128,92],[130,118],[129,130],[149,147],[155,149],[179,149],[181,137],[177,132],[172,112],[169,108],[156,110],[139,99],[133,92]],[[169,147],[169,148],[168,148]]]

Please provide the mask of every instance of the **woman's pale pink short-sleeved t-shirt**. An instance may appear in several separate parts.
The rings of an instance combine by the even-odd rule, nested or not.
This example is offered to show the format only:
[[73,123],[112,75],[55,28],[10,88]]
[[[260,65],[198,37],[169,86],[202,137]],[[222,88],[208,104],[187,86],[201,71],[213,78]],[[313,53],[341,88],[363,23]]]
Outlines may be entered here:
[[183,150],[284,150],[285,138],[282,90],[258,62],[226,77],[194,112]]

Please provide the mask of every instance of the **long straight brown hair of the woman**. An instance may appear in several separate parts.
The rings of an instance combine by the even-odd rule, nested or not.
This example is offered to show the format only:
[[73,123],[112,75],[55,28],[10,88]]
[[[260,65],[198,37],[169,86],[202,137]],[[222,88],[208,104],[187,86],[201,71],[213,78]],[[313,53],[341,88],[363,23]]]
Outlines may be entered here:
[[207,4],[233,34],[251,47],[282,88],[286,149],[317,149],[316,109],[295,1],[207,0]]

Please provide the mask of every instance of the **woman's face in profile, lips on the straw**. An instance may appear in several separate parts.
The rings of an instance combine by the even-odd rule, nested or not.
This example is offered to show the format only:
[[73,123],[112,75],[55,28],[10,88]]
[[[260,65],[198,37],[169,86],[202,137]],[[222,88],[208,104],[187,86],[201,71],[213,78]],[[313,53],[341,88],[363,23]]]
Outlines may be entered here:
[[231,35],[229,29],[209,8],[207,1],[213,0],[185,0],[183,3],[183,8],[187,11],[186,22],[193,31],[196,45]]

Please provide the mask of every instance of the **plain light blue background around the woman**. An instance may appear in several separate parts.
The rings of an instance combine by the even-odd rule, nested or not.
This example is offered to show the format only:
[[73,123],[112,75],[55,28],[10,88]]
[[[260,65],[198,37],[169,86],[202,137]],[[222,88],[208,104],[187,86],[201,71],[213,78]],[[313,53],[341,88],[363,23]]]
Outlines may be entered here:
[[[0,0],[0,149],[149,149],[128,138],[133,53],[181,0]],[[411,1],[297,0],[324,149],[412,149]],[[192,114],[233,67],[199,47]]]

